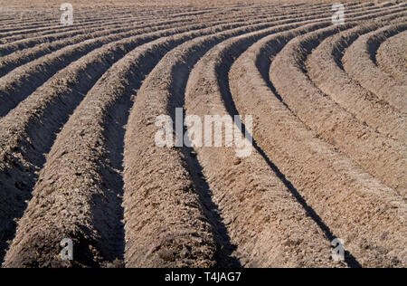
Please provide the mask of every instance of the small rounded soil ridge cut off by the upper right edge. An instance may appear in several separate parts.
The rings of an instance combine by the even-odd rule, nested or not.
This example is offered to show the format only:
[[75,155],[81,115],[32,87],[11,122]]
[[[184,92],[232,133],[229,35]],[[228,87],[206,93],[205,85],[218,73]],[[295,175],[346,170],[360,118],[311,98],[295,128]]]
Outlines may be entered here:
[[379,67],[396,81],[407,85],[407,31],[384,41],[376,53]]

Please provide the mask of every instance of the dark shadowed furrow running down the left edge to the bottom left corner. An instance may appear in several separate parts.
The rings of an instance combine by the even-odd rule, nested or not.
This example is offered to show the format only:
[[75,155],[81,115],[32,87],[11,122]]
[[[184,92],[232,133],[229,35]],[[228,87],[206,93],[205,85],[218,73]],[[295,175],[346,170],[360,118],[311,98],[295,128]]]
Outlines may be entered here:
[[[21,159],[13,154],[5,154],[5,161],[9,167],[0,169],[0,199],[5,197],[5,201],[13,202],[7,212],[5,221],[0,222],[0,230],[4,231],[0,241],[0,263],[4,262],[7,244],[14,238],[16,221],[23,215],[27,207],[25,201],[32,198],[33,188],[38,179],[37,171],[45,164],[45,155],[48,154],[63,125],[68,121],[70,115],[79,106],[84,95],[96,84],[101,75],[108,71],[109,67],[118,62],[126,54],[125,51],[117,49],[106,56],[104,61],[90,64],[84,71],[81,71],[80,78],[83,79],[78,84],[70,85],[71,90],[66,91],[53,100],[43,111],[43,119],[35,119],[27,127],[26,137],[31,142],[19,142],[14,152],[21,152],[24,160],[30,162],[30,167],[26,166]],[[2,155],[3,156],[3,155]],[[118,168],[119,169],[119,168]],[[3,180],[5,177],[5,180]],[[122,183],[121,183],[122,184]],[[4,194],[2,194],[4,193]],[[0,201],[0,205],[4,202]],[[121,252],[122,253],[122,252]]]

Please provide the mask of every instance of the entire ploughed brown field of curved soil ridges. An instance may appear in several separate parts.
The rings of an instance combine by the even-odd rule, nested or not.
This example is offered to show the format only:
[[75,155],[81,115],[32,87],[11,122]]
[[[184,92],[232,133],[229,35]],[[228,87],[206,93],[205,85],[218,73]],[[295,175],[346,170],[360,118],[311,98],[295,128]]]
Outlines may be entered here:
[[333,2],[0,1],[0,264],[407,267],[407,2]]

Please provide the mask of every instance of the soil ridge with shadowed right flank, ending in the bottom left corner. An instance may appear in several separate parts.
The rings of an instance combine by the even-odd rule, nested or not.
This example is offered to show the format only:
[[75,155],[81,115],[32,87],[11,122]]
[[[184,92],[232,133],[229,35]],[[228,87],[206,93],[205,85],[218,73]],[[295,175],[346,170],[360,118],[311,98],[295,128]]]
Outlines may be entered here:
[[[78,253],[69,266],[100,267],[122,260],[121,153],[132,95],[166,52],[202,33],[211,30],[178,34],[139,46],[114,64],[88,92],[47,156],[33,199],[6,255],[5,267],[63,266],[55,257],[59,253],[55,245],[65,237],[72,238]],[[193,195],[189,198],[196,200]],[[179,221],[188,215],[183,214]],[[199,212],[191,217],[191,221],[202,219]],[[33,224],[43,225],[41,232],[33,229]],[[191,227],[207,241],[203,253],[210,255],[214,243],[209,225]],[[213,265],[205,256],[194,265]]]

